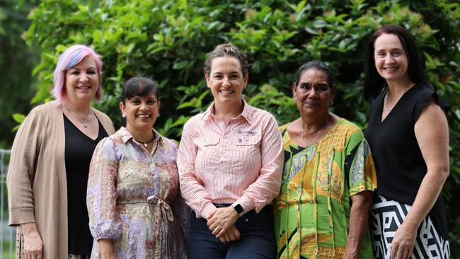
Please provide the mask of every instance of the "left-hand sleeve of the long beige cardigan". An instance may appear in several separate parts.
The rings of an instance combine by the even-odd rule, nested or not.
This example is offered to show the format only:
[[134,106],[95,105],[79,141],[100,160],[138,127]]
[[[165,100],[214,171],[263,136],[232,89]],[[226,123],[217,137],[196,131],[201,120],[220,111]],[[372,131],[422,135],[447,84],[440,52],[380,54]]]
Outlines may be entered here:
[[35,222],[32,183],[42,143],[42,121],[32,110],[19,127],[11,148],[6,175],[10,226]]

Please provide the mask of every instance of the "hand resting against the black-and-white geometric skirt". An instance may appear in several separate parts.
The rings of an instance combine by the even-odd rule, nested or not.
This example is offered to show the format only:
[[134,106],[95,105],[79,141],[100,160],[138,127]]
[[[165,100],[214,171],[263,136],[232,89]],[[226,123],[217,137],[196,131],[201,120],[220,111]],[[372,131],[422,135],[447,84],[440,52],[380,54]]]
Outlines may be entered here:
[[407,259],[412,255],[417,238],[417,228],[404,223],[395,232],[391,242],[391,259]]

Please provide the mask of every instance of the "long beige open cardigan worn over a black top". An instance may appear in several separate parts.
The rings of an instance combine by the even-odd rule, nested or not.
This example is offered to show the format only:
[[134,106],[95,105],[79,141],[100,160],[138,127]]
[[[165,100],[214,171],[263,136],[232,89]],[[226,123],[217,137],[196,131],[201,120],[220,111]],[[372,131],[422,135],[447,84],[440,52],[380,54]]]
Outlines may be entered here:
[[[110,118],[93,110],[109,136],[115,133]],[[44,259],[69,256],[64,140],[62,106],[53,101],[34,108],[16,134],[6,178],[9,224],[36,222]],[[21,258],[21,227],[17,233],[16,258]]]

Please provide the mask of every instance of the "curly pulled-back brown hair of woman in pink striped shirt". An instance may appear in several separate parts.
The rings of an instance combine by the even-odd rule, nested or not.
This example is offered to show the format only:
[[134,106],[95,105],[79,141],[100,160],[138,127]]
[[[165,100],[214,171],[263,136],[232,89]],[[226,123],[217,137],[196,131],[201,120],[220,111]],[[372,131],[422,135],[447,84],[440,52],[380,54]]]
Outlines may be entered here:
[[243,76],[246,76],[249,74],[249,69],[248,69],[248,59],[246,57],[246,54],[242,52],[241,50],[238,49],[233,44],[223,44],[223,45],[217,45],[216,48],[211,52],[209,57],[207,57],[205,61],[205,68],[203,69],[203,72],[207,75],[211,72],[211,63],[212,59],[216,57],[234,57],[238,59],[238,61],[241,64],[241,71],[243,73]]

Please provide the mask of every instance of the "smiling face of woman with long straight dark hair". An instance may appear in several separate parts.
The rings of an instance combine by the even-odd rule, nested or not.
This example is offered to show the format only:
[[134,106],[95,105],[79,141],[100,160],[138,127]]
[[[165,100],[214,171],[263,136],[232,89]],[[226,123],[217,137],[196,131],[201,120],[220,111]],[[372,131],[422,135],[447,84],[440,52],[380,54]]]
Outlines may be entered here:
[[388,81],[408,79],[408,58],[401,40],[394,34],[382,34],[374,42],[375,67]]

